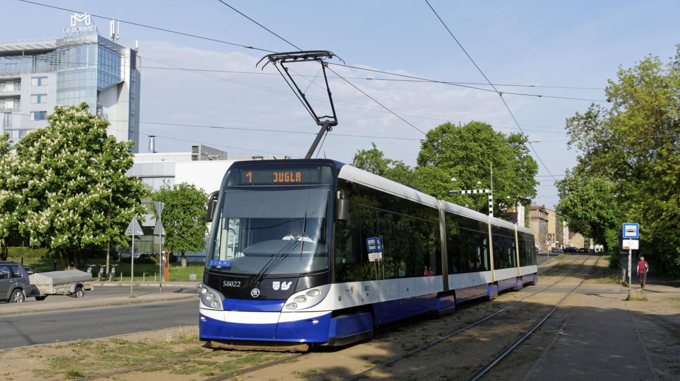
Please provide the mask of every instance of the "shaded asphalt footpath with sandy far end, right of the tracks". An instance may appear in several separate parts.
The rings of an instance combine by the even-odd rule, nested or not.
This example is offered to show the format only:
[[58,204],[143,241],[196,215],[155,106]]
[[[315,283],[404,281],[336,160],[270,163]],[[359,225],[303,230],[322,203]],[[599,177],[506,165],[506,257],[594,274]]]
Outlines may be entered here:
[[651,284],[647,302],[626,302],[627,293],[622,285],[586,281],[562,306],[568,320],[528,380],[659,380],[676,352],[655,347],[675,344],[656,322],[680,320],[680,310],[668,304],[680,289]]

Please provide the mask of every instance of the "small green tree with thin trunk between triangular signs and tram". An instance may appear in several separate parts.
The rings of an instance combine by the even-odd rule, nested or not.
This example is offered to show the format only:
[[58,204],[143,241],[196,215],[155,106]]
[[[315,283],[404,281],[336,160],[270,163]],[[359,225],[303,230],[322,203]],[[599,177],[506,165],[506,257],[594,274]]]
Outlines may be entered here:
[[152,197],[165,202],[160,218],[165,228],[165,247],[182,253],[182,268],[186,268],[186,252],[205,249],[207,194],[193,184],[180,183],[164,184]]

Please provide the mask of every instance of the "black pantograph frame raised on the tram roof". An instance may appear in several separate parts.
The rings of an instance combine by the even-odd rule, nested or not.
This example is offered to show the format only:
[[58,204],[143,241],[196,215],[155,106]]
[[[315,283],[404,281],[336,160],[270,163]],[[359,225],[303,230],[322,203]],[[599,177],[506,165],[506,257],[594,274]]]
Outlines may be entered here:
[[[311,147],[309,147],[309,151],[307,151],[305,159],[311,159],[312,154],[314,153],[314,151],[316,151],[316,147],[318,147],[319,142],[321,141],[322,137],[324,137],[324,134],[326,134],[326,132],[330,132],[331,130],[333,130],[333,127],[337,126],[338,124],[338,118],[335,113],[335,105],[333,105],[333,95],[330,94],[330,87],[328,87],[328,77],[326,76],[326,65],[328,64],[324,62],[325,59],[330,59],[334,57],[338,58],[343,63],[345,62],[335,53],[329,52],[328,50],[307,50],[303,52],[284,52],[269,54],[267,56],[262,57],[262,59],[260,59],[255,65],[257,67],[258,65],[260,65],[260,62],[262,62],[266,58],[267,62],[265,62],[265,65],[262,65],[262,70],[264,70],[265,66],[267,66],[267,64],[271,62],[276,68],[276,70],[279,71],[279,74],[281,74],[281,76],[284,77],[284,79],[286,80],[286,84],[288,84],[288,86],[290,87],[290,90],[293,90],[295,96],[297,96],[299,101],[303,104],[303,106],[305,106],[305,109],[307,109],[309,115],[313,117],[314,122],[316,122],[317,126],[321,126],[319,133],[316,134],[314,142],[311,143]],[[311,107],[311,105],[309,104],[309,101],[307,101],[305,92],[303,92],[303,90],[299,88],[299,86],[295,82],[295,79],[293,79],[290,73],[288,73],[288,67],[286,67],[286,64],[290,64],[293,62],[309,62],[309,61],[317,61],[321,64],[321,71],[324,73],[324,81],[326,81],[326,92],[328,92],[328,101],[330,101],[330,109],[333,115],[323,116],[317,115],[313,107]],[[279,66],[281,68],[279,68]],[[281,69],[284,70],[281,71]]]

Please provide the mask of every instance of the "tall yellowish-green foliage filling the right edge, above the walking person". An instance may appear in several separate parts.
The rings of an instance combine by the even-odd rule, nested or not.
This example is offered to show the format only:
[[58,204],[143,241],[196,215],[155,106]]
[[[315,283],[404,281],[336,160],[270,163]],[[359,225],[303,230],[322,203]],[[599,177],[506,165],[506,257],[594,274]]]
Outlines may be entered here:
[[[640,223],[641,249],[656,268],[680,274],[680,45],[668,64],[647,56],[619,67],[605,92],[611,108],[592,105],[568,118],[570,145],[581,152],[577,178],[609,181],[602,200],[620,223]],[[618,210],[618,211],[617,211]],[[571,222],[573,217],[568,217]],[[611,221],[602,221],[600,231]],[[605,226],[601,226],[605,225]],[[592,228],[592,225],[591,225]],[[605,232],[605,239],[613,234]]]

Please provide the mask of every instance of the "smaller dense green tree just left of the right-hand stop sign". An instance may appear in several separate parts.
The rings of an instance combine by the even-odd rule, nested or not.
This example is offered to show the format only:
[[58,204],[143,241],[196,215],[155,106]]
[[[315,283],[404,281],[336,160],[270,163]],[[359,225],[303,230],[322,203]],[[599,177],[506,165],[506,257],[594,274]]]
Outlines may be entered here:
[[556,181],[560,202],[557,212],[569,221],[569,228],[604,244],[605,251],[618,245],[617,233],[622,219],[616,184],[600,176],[579,176],[566,171]]

